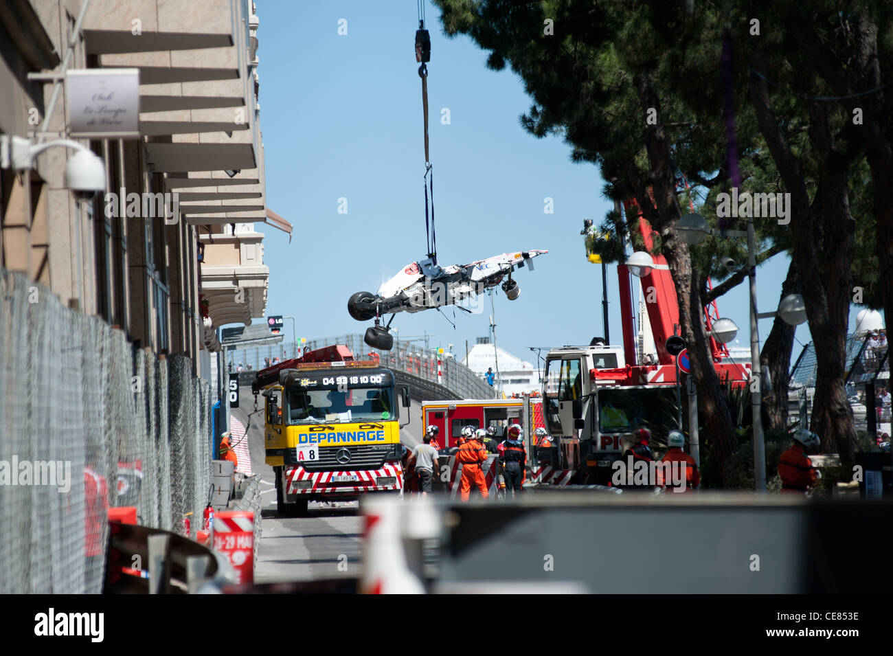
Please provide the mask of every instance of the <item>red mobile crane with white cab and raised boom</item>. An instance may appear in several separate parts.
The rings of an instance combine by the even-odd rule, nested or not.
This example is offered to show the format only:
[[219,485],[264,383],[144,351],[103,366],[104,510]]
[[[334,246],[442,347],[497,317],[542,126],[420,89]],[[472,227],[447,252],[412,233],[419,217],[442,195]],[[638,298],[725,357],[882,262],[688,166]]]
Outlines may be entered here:
[[[653,229],[637,203],[629,200],[623,204],[627,216],[637,218],[638,231],[650,251]],[[638,362],[630,269],[619,264],[623,347],[605,345],[596,338],[588,346],[564,346],[547,354],[543,408],[553,444],[560,445],[559,470],[534,472],[535,480],[606,485],[613,461],[622,453],[622,436],[646,427],[660,442],[672,429],[686,430],[684,425],[678,426],[676,366],[666,348],[667,340],[680,334],[679,303],[665,259],[655,255],[654,262],[655,267],[641,282],[647,290],[657,363]],[[705,309],[708,332],[716,319],[716,303],[711,303]],[[713,336],[710,348],[720,379],[744,385],[750,378],[749,362],[728,361],[728,350]]]

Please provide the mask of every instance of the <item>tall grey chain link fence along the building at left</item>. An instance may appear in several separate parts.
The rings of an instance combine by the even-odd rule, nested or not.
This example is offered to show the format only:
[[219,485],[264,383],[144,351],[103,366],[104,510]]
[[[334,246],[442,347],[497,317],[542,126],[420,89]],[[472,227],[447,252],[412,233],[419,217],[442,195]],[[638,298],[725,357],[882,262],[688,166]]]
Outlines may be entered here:
[[98,593],[110,506],[179,532],[201,518],[210,391],[20,274],[0,292],[0,594]]

